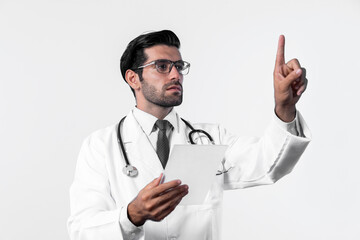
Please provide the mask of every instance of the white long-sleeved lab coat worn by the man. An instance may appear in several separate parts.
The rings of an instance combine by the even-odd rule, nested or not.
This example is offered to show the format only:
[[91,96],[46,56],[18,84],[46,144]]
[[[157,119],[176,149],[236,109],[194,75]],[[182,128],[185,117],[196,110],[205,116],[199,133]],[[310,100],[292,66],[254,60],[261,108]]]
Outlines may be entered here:
[[[127,205],[163,168],[130,112],[122,126],[122,137],[129,161],[139,174],[132,178],[122,173],[125,161],[117,143],[117,124],[90,135],[82,145],[70,189],[71,239],[220,239],[223,190],[271,184],[289,173],[310,141],[299,113],[297,121],[307,137],[290,134],[275,120],[262,138],[239,138],[219,125],[193,124],[207,131],[216,144],[229,145],[225,167],[231,169],[217,176],[204,204],[178,206],[161,222],[147,221],[135,227],[127,219]],[[177,122],[179,131],[172,133],[172,146],[188,143],[190,129],[179,117]]]

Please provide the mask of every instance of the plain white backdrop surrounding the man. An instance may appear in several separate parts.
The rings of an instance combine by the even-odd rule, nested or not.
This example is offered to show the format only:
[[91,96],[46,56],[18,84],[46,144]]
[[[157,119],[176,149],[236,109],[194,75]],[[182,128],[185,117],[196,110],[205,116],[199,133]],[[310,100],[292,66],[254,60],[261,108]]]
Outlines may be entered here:
[[134,106],[127,43],[172,29],[191,62],[177,111],[261,135],[277,39],[307,68],[313,133],[277,184],[225,193],[224,239],[360,239],[360,1],[0,1],[0,238],[68,239],[82,140]]

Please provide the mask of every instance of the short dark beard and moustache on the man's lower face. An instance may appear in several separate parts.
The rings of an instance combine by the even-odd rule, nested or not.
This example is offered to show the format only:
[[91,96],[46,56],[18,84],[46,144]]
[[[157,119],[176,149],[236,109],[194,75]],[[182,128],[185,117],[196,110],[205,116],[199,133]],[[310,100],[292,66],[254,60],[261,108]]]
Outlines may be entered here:
[[[179,81],[173,81],[165,84],[160,91],[153,85],[148,84],[144,79],[141,81],[141,84],[145,99],[155,105],[168,108],[179,106],[182,103],[183,91],[182,85]],[[174,85],[180,86],[181,92],[167,92],[166,89]]]

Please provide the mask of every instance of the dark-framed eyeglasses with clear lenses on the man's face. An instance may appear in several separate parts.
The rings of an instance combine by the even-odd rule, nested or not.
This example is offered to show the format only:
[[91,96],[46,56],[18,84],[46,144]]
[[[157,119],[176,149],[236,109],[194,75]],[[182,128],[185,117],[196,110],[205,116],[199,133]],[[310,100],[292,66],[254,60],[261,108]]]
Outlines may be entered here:
[[185,62],[183,60],[178,60],[178,61],[173,62],[168,59],[158,59],[158,60],[149,62],[143,66],[140,66],[137,69],[144,68],[144,67],[154,65],[154,64],[155,64],[156,70],[159,73],[170,73],[173,66],[175,66],[176,70],[181,75],[188,74],[189,70],[190,70],[190,63]]

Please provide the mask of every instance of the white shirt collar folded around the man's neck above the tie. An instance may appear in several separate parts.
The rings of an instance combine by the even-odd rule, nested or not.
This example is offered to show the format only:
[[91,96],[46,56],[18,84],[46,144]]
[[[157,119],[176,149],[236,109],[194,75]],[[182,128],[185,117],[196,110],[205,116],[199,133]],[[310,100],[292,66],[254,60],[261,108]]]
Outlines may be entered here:
[[[153,132],[154,124],[158,119],[150,113],[144,112],[137,107],[134,107],[133,114],[141,128],[149,136]],[[166,115],[164,120],[168,120],[173,126],[174,130],[177,132],[179,131],[179,118],[174,109],[172,109],[169,114]]]

